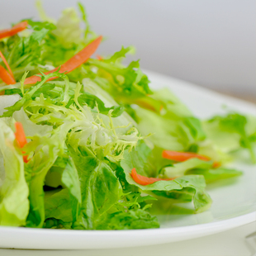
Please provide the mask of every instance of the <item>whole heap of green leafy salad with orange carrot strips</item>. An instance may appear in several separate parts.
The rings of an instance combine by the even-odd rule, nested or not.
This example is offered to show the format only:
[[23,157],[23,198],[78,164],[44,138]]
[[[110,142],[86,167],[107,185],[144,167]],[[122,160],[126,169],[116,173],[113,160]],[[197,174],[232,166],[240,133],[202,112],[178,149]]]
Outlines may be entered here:
[[243,174],[234,152],[255,164],[256,117],[199,120],[122,64],[133,47],[97,55],[78,8],[0,31],[0,225],[148,229],[163,205],[206,211],[207,183]]

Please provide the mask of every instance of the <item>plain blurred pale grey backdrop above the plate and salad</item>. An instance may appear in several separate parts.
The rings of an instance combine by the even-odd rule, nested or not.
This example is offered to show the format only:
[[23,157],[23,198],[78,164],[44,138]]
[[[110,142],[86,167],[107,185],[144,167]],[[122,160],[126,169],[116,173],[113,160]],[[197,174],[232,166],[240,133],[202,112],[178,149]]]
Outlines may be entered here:
[[[76,0],[42,0],[58,18]],[[99,53],[134,45],[143,69],[256,103],[256,1],[80,0],[92,29],[106,36]],[[0,28],[39,18],[34,0],[1,0]]]

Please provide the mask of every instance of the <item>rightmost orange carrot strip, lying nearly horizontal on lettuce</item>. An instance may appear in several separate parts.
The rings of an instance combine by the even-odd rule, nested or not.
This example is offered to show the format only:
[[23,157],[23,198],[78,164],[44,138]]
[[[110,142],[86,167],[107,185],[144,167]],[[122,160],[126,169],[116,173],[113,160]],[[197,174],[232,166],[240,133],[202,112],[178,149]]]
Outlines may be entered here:
[[[171,151],[171,150],[164,150],[162,153],[164,159],[169,159],[173,161],[183,162],[187,159],[201,159],[204,161],[210,161],[211,159],[205,155],[196,154],[192,152],[178,152],[178,151]],[[212,165],[214,168],[220,167],[220,163],[215,162]]]

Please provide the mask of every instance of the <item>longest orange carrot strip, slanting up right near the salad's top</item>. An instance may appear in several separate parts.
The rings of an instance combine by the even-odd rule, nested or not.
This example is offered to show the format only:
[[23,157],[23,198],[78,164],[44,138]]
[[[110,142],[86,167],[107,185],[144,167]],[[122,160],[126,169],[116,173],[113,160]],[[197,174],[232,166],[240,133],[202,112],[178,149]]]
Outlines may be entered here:
[[[73,69],[77,69],[80,65],[82,65],[84,62],[86,62],[91,55],[97,50],[98,45],[102,41],[102,36],[97,37],[96,40],[93,40],[92,43],[87,45],[83,48],[83,50],[79,51],[78,54],[73,55],[71,59],[69,59],[67,62],[65,62],[63,65],[59,68],[50,70],[48,72],[45,72],[45,74],[53,73],[59,69],[59,73],[69,73],[73,71]],[[53,80],[57,77],[49,78],[48,81]],[[24,84],[31,84],[36,83],[41,80],[40,77],[34,75],[30,78],[26,78]]]

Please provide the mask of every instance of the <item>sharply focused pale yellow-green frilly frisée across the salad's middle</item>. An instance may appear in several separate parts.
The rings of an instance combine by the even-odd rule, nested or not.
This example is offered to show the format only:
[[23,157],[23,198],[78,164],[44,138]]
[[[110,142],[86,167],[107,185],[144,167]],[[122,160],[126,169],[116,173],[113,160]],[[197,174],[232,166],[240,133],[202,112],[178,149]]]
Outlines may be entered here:
[[[63,93],[59,93],[61,96],[57,98],[45,98],[44,92],[50,95],[49,83],[45,82],[52,76],[64,79],[64,83],[56,83],[56,86],[52,87],[52,90],[55,91],[56,88],[59,88],[60,92]],[[41,92],[40,97],[35,97],[39,90]],[[79,103],[82,101],[81,95],[88,96],[84,100],[88,100],[88,104],[94,109],[91,109],[88,104],[82,104],[82,106]],[[73,101],[72,104],[69,104],[70,99]],[[97,106],[97,102],[99,106]],[[26,115],[29,116],[29,120],[36,125],[55,128],[63,125],[68,126],[70,145],[74,147],[78,147],[78,145],[88,146],[94,154],[102,152],[104,156],[111,159],[121,159],[124,150],[126,148],[132,149],[140,140],[138,130],[130,126],[131,124],[126,120],[126,117],[118,117],[121,126],[115,126],[116,121],[113,121],[112,115],[113,113],[114,116],[120,115],[121,107],[105,107],[102,100],[87,92],[83,93],[80,83],[73,86],[73,83],[69,83],[69,79],[62,73],[55,72],[44,75],[42,81],[24,92],[23,97],[13,106],[7,107],[7,111],[2,116],[12,116],[16,111],[20,111],[22,107]],[[109,110],[108,113],[107,110]],[[104,113],[107,113],[106,118],[100,116]],[[123,121],[126,121],[125,126]]]

